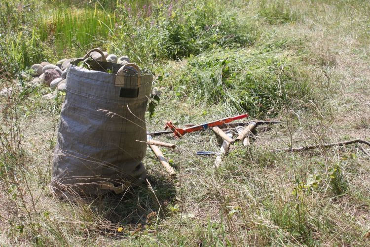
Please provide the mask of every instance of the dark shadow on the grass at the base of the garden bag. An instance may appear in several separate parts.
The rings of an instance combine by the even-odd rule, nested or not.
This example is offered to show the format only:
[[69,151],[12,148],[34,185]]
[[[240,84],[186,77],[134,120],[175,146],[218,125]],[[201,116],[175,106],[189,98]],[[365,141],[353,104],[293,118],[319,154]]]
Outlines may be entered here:
[[148,175],[148,181],[152,190],[148,183],[143,183],[122,194],[109,193],[96,198],[92,206],[113,225],[145,227],[152,224],[165,217],[165,208],[175,200],[176,190],[166,174]]

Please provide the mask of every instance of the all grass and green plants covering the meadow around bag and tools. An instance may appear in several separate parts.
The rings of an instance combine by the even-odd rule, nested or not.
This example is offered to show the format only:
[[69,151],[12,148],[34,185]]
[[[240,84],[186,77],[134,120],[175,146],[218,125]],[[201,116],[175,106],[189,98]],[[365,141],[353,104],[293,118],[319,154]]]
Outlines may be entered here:
[[[0,2],[0,245],[367,246],[370,3],[357,0]],[[48,191],[64,100],[30,66],[102,47],[155,75],[150,131],[247,112],[278,119],[222,166],[211,131],[159,139],[172,180],[148,150],[150,186],[74,202]],[[6,90],[10,88],[12,90]],[[153,107],[154,108],[154,107]],[[153,109],[151,109],[153,110]]]

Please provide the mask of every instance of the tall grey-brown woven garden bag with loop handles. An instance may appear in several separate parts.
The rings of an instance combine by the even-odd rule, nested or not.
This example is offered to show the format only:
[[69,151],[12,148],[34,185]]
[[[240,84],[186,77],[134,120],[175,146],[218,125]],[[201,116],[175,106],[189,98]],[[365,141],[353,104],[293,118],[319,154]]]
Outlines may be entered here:
[[90,70],[77,66],[80,60],[67,68],[50,183],[58,195],[120,193],[146,178],[141,161],[153,76],[132,63],[107,62],[99,49],[92,51],[100,52],[102,61],[84,60]]

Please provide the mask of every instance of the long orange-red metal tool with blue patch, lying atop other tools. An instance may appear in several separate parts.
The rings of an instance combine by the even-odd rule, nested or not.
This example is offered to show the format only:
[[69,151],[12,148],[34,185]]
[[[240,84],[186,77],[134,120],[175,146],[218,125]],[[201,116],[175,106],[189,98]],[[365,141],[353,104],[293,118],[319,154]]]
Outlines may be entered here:
[[215,127],[215,126],[220,126],[222,124],[230,123],[234,120],[244,119],[244,118],[248,118],[248,117],[249,117],[248,114],[242,114],[242,115],[231,117],[231,118],[216,120],[216,121],[213,121],[213,122],[210,122],[210,123],[194,125],[194,126],[191,126],[191,127],[188,127],[188,128],[177,128],[174,124],[172,124],[171,121],[169,121],[164,126],[164,129],[170,128],[172,130],[172,132],[174,132],[175,137],[182,137],[183,135],[185,135],[185,133],[190,133],[190,132],[194,132],[194,131],[198,131],[198,130],[208,129],[208,128],[212,128],[212,127]]

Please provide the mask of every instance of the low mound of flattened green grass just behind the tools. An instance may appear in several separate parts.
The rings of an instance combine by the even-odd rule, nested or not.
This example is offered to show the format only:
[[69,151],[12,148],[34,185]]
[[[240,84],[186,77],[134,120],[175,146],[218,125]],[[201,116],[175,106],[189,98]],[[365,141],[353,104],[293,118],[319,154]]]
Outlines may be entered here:
[[288,51],[215,49],[176,72],[163,71],[158,81],[199,107],[222,105],[227,112],[257,116],[278,112],[295,97],[308,100],[312,92],[302,72]]

